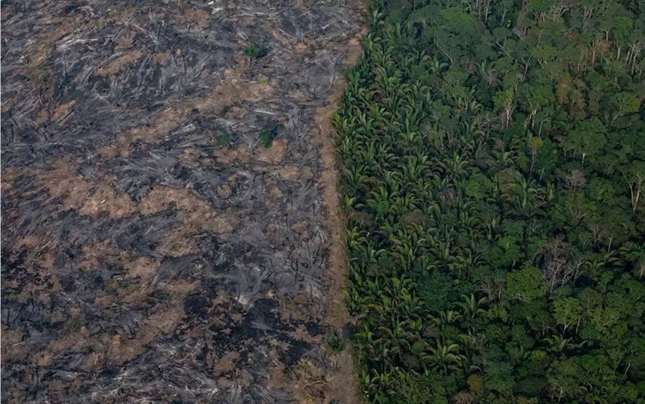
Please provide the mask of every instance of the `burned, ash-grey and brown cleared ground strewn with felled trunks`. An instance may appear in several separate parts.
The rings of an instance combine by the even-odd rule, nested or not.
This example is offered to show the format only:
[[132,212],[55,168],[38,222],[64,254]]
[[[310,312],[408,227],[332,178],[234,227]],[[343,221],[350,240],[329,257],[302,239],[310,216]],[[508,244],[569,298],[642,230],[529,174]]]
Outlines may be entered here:
[[0,0],[0,403],[355,401],[324,343],[361,25],[343,0]]

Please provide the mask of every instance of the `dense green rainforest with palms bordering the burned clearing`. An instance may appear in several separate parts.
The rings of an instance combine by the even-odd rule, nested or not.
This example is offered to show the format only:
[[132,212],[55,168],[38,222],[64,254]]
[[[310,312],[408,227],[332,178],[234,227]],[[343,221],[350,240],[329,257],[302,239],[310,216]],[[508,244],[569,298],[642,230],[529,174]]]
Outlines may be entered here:
[[370,403],[645,403],[645,2],[369,0],[333,117]]

